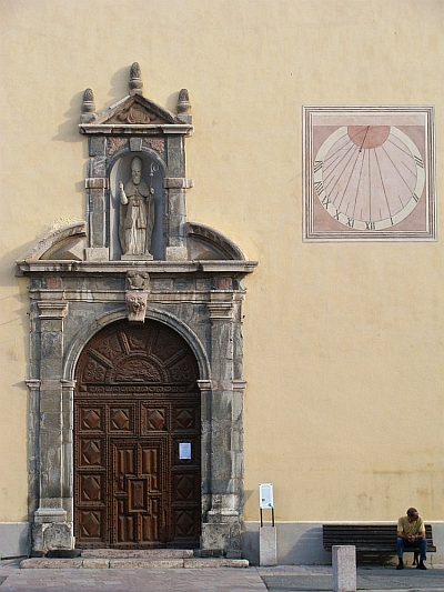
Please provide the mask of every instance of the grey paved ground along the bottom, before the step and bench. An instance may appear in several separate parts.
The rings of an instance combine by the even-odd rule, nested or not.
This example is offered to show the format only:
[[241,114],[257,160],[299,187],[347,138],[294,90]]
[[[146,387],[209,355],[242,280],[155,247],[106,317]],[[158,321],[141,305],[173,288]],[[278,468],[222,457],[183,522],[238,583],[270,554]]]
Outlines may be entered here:
[[[167,570],[0,568],[0,592],[322,592],[333,588],[329,565]],[[359,566],[357,590],[444,592],[444,565],[427,571]]]

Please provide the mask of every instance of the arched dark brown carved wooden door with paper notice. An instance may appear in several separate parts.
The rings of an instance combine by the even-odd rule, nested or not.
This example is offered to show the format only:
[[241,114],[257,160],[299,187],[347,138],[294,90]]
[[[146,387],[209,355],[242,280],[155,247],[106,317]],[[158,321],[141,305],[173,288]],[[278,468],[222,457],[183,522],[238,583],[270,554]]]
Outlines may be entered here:
[[199,545],[201,403],[188,343],[158,321],[119,321],[88,342],[75,379],[77,546]]

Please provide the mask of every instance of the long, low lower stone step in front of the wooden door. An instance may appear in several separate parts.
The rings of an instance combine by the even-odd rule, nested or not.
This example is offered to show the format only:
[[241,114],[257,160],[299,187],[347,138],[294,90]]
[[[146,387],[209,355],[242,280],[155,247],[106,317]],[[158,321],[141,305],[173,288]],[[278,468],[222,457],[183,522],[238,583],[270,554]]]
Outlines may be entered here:
[[248,568],[246,559],[199,559],[199,558],[124,558],[81,556],[77,559],[31,558],[20,562],[26,569],[94,569],[94,570],[165,570],[188,569],[201,570],[206,568]]

